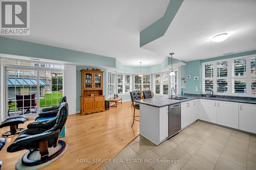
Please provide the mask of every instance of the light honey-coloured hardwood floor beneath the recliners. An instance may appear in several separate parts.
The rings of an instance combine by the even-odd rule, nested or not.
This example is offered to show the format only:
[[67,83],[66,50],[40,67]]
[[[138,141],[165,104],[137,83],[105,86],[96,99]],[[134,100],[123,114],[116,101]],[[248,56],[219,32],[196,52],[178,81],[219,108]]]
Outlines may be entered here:
[[[136,115],[139,111],[136,110]],[[139,122],[133,121],[131,102],[123,102],[117,108],[109,111],[87,114],[70,115],[66,123],[66,136],[62,138],[69,144],[68,151],[58,160],[42,169],[99,169],[105,163],[96,160],[113,158],[122,151],[127,144],[139,135]],[[20,127],[26,127],[32,120]],[[9,127],[0,129],[1,134]],[[27,150],[7,153],[7,147],[16,136],[8,137],[6,146],[0,151],[2,169],[15,169],[15,163]],[[83,159],[86,163],[77,163]],[[88,160],[91,162],[88,162]]]

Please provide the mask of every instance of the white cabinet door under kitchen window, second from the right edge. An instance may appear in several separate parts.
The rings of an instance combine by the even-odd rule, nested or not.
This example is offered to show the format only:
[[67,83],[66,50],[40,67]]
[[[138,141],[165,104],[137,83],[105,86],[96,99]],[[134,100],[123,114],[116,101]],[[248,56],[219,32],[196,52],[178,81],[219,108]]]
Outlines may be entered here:
[[217,101],[217,124],[230,128],[239,128],[238,103]]

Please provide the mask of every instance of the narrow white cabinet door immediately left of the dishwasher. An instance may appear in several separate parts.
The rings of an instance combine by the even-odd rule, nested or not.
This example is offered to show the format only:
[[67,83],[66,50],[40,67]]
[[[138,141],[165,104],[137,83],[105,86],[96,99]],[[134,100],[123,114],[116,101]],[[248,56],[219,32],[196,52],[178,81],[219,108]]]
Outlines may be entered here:
[[160,108],[160,114],[159,114],[159,140],[162,141],[164,140],[165,138],[168,137],[168,131],[169,131],[169,128],[168,128],[168,106],[165,106],[165,107],[161,107]]

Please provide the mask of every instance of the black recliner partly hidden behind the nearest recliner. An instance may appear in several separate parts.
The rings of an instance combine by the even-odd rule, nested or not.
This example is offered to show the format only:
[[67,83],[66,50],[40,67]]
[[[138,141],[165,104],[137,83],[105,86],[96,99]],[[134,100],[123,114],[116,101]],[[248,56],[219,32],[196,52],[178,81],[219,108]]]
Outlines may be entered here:
[[41,118],[41,117],[56,116],[57,113],[58,113],[58,110],[60,108],[60,104],[63,103],[63,102],[67,102],[67,97],[66,96],[61,97],[59,105],[42,109],[42,111],[38,114],[38,117],[36,117],[35,120],[37,120],[37,118]]

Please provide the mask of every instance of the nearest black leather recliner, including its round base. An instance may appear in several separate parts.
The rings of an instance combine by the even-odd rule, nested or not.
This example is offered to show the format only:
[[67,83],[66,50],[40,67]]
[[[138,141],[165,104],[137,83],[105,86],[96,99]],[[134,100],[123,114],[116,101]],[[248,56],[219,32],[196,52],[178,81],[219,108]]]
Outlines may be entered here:
[[[7,152],[29,150],[22,158],[22,163],[26,166],[38,165],[55,158],[66,147],[66,142],[58,140],[58,137],[65,126],[68,114],[68,103],[61,103],[57,116],[54,119],[30,123],[27,129],[20,132],[14,142],[9,145]],[[49,155],[48,148],[55,148],[58,143],[61,147],[59,145],[59,149],[52,155]],[[40,159],[29,159],[33,152],[38,152],[38,149]]]

